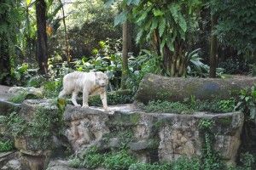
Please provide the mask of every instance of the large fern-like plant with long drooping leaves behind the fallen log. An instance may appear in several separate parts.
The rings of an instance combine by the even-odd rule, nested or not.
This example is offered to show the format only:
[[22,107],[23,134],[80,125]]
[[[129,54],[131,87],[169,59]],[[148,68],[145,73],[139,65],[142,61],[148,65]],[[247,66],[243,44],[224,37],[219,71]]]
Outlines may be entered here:
[[[189,4],[188,4],[189,3]],[[186,74],[185,50],[196,28],[196,10],[201,1],[140,1],[132,14],[139,26],[137,42],[149,40],[163,57],[163,71],[172,77]],[[168,17],[166,17],[168,16]]]

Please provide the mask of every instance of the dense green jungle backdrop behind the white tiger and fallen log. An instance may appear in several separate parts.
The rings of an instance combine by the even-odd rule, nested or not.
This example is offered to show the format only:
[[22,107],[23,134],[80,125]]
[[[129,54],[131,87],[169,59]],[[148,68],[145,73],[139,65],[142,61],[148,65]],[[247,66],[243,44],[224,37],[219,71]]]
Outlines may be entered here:
[[[0,84],[44,87],[49,98],[72,71],[104,71],[108,91],[131,94],[148,73],[253,77],[255,8],[255,0],[2,0]],[[250,90],[241,99],[255,106]]]

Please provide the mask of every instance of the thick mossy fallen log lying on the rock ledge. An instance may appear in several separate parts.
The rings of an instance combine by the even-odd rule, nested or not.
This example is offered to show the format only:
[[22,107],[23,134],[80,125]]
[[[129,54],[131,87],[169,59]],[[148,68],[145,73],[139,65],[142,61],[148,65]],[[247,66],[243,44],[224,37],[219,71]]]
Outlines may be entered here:
[[242,88],[252,87],[256,77],[249,78],[182,78],[148,74],[138,88],[136,99],[143,103],[152,100],[183,101],[195,99],[230,99]]

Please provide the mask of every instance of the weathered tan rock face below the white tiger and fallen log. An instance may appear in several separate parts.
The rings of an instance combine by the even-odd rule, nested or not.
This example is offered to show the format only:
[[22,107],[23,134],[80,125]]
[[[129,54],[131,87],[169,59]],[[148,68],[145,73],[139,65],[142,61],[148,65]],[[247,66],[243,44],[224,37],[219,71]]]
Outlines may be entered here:
[[201,156],[201,120],[212,120],[214,149],[229,164],[236,160],[240,145],[243,114],[232,112],[193,115],[145,113],[134,105],[111,108],[113,115],[96,109],[81,109],[68,105],[64,113],[66,135],[79,152],[90,145],[102,150],[128,143],[141,161],[173,161],[180,156]]

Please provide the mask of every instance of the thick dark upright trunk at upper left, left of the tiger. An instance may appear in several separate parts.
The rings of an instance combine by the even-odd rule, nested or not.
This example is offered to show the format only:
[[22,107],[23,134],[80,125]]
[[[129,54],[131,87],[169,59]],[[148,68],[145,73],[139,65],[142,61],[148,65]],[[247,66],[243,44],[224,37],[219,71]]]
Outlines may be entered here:
[[36,3],[37,27],[38,27],[38,65],[39,72],[47,74],[47,34],[46,34],[46,3],[38,0]]

